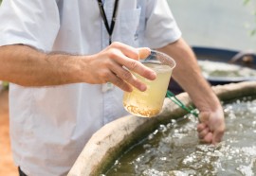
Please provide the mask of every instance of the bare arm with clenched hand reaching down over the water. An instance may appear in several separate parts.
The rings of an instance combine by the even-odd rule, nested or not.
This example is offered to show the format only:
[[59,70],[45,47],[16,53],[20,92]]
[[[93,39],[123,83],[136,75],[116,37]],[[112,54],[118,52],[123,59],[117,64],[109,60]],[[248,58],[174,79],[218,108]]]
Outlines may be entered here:
[[176,67],[173,77],[188,92],[200,112],[198,137],[207,143],[220,142],[225,132],[223,109],[208,81],[202,76],[191,47],[181,38],[157,50],[174,58]]

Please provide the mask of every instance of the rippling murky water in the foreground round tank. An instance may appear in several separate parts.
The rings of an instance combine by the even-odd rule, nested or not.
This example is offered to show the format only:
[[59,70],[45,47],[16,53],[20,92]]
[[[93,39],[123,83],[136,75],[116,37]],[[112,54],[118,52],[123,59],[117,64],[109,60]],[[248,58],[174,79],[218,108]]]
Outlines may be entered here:
[[255,175],[256,100],[245,97],[224,108],[227,130],[219,145],[200,144],[197,119],[188,115],[160,125],[102,176]]

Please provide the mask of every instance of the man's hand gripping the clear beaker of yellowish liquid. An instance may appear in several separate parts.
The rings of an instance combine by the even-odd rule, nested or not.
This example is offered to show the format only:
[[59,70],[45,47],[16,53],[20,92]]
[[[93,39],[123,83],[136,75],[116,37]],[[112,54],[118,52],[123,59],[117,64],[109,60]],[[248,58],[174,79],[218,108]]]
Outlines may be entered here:
[[[132,86],[140,91],[147,89],[146,85],[138,80],[130,71],[146,79],[155,79],[155,72],[144,66],[139,59],[146,58],[150,49],[134,48],[132,46],[113,43],[96,55],[92,55],[86,62],[87,82],[106,83],[111,82],[123,91],[131,92]],[[132,85],[132,86],[131,86]]]

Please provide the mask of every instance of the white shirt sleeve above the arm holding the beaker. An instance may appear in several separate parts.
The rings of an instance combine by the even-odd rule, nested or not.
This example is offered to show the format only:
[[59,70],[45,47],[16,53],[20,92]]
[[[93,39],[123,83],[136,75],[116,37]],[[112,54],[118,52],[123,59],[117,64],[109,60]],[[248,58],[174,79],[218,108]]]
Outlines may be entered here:
[[27,44],[50,51],[59,27],[55,0],[4,0],[0,6],[0,45]]

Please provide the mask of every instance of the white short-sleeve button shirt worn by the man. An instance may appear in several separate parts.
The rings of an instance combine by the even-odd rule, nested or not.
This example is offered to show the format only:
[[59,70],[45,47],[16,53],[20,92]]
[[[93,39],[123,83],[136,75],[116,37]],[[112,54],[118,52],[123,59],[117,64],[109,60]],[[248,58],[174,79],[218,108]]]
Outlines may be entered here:
[[[111,20],[114,0],[105,0]],[[113,41],[158,48],[181,36],[166,0],[119,0]],[[4,0],[0,45],[90,55],[108,45],[97,0]],[[1,64],[1,63],[0,63]],[[102,125],[127,114],[122,91],[86,83],[27,88],[11,84],[14,161],[27,175],[65,175]]]

